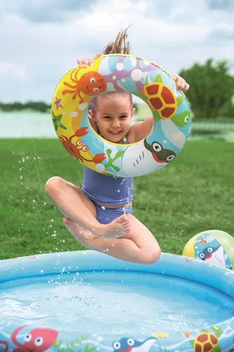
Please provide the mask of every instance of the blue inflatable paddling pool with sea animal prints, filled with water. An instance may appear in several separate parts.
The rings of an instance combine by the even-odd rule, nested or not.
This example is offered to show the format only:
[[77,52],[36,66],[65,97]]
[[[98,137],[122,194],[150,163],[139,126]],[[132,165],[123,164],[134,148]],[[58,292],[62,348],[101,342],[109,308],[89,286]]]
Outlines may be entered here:
[[230,351],[234,272],[162,253],[94,251],[0,261],[0,351]]

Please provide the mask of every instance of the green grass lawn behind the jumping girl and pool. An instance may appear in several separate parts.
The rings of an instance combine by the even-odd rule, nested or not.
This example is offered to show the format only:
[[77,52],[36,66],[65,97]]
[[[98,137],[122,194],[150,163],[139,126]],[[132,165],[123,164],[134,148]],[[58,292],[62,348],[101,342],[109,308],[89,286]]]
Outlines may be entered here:
[[[167,167],[136,177],[134,215],[162,251],[180,254],[198,232],[234,234],[234,144],[188,141]],[[57,139],[0,139],[0,259],[84,249],[63,227],[44,184],[82,183],[82,165]]]

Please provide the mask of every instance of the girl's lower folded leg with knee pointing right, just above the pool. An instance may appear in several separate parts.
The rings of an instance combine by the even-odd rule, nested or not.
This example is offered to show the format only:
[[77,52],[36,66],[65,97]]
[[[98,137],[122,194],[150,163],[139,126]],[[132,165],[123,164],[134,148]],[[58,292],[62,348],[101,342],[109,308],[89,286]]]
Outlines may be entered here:
[[130,230],[128,234],[117,239],[103,239],[93,236],[89,230],[84,230],[70,219],[64,219],[67,230],[84,246],[106,253],[115,258],[134,263],[150,264],[160,258],[160,246],[155,237],[145,225],[134,215],[129,218]]

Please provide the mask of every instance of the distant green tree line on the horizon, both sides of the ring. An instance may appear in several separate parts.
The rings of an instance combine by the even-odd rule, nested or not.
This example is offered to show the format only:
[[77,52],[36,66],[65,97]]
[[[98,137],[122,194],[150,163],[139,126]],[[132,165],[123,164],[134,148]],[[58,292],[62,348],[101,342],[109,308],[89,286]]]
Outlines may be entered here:
[[[179,73],[189,84],[186,97],[196,119],[228,117],[234,120],[234,77],[229,73],[228,61],[214,62],[209,58],[204,64],[195,63]],[[137,108],[137,104],[135,104]],[[45,113],[51,105],[43,101],[0,103],[2,111],[32,109]]]

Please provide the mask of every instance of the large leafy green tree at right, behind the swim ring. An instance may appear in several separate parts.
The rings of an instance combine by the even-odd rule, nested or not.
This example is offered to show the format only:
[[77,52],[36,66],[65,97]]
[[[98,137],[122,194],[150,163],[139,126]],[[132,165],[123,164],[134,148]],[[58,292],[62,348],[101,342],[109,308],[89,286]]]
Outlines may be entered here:
[[225,106],[232,106],[234,77],[228,70],[227,61],[215,64],[212,58],[204,65],[195,63],[188,70],[181,70],[179,74],[190,84],[186,96],[195,118],[216,118]]

